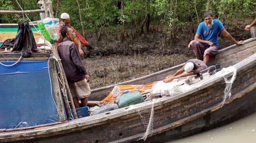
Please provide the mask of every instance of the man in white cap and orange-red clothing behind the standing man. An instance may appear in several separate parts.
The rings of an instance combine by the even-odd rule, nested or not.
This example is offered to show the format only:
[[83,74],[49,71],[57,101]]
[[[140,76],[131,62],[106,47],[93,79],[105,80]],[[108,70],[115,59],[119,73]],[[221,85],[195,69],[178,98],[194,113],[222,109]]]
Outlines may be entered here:
[[[74,29],[74,27],[72,27],[70,25],[70,17],[69,14],[67,13],[62,13],[61,14],[61,21],[59,22],[59,30],[61,30],[61,27],[63,26],[70,26],[72,28],[72,30],[74,30],[76,37],[74,37],[73,42],[77,44],[79,53],[81,55],[81,57],[84,57],[84,52],[82,50],[82,46],[83,45],[88,45],[88,42],[86,41],[86,39],[84,39],[84,37],[82,37],[82,35]],[[63,41],[63,37],[60,35],[59,40],[57,42],[57,46],[59,46],[59,44]]]

